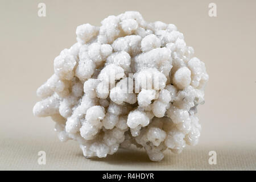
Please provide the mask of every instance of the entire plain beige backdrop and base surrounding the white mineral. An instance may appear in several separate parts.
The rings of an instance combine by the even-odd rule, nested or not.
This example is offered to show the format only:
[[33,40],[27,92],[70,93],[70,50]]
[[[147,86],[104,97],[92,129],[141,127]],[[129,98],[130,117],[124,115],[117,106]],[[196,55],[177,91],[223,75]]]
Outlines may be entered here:
[[[44,2],[47,16],[38,17]],[[217,17],[208,5],[217,5]],[[158,3],[158,4],[156,4]],[[256,169],[256,1],[0,1],[0,169]],[[137,10],[148,22],[176,24],[210,76],[199,106],[200,143],[152,163],[143,151],[85,159],[76,142],[61,143],[49,118],[35,118],[36,89],[53,59],[76,41],[79,24]],[[47,154],[39,166],[38,151]],[[217,165],[208,152],[217,152]]]

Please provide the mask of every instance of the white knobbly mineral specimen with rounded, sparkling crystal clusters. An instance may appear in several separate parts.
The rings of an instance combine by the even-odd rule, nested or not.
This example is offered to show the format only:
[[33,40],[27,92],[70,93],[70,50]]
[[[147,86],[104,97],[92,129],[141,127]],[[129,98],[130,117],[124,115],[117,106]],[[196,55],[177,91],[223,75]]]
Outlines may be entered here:
[[160,161],[167,148],[177,154],[197,144],[208,74],[183,34],[135,11],[101,24],[77,27],[77,43],[37,90],[34,115],[51,116],[60,140],[77,140],[86,158],[134,144]]

